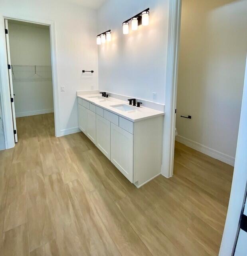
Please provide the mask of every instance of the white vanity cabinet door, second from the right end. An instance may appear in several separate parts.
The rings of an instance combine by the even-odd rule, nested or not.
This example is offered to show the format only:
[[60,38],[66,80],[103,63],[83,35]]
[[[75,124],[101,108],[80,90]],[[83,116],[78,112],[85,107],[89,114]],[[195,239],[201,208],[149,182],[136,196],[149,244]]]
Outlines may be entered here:
[[111,122],[96,115],[96,146],[111,160]]

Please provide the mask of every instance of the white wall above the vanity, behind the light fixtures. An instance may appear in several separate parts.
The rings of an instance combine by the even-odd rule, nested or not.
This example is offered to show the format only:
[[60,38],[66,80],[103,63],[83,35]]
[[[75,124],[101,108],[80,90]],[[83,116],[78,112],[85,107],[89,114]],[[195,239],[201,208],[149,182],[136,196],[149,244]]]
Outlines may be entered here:
[[[148,7],[149,26],[123,35],[122,23]],[[98,46],[100,90],[144,100],[156,92],[164,103],[168,11],[168,0],[109,0],[99,9],[98,32],[112,30],[112,42]]]

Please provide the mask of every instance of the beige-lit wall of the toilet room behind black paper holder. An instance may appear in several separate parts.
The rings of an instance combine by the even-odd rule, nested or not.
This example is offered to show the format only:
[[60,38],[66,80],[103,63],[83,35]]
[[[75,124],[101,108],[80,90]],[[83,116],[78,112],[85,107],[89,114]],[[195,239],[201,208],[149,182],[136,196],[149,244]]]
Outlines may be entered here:
[[182,1],[178,134],[231,164],[243,93],[246,13],[246,0]]

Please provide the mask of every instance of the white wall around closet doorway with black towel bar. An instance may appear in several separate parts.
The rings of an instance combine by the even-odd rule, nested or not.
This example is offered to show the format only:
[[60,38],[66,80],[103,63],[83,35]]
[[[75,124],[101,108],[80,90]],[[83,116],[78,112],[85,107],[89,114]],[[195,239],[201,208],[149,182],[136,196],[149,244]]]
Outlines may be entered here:
[[[96,11],[49,0],[0,0],[0,6],[1,16],[55,22],[59,126],[63,134],[74,131],[78,127],[76,91],[98,88]],[[83,69],[95,73],[82,75]],[[65,92],[60,92],[60,86],[65,86]]]

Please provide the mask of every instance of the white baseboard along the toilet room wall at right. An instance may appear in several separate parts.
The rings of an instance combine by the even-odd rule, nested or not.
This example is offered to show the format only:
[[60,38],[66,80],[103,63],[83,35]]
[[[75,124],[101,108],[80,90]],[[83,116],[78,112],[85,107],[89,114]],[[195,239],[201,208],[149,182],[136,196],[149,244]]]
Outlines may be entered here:
[[204,153],[208,156],[211,156],[212,158],[215,158],[217,160],[220,160],[221,162],[224,162],[226,164],[229,164],[231,166],[234,166],[235,158],[232,156],[229,156],[227,154],[221,153],[217,150],[214,150],[212,148],[209,148],[207,146],[204,146],[198,142],[195,142],[193,140],[189,140],[187,138],[184,138],[183,136],[176,136],[176,141],[185,144],[186,146],[193,148],[201,153]]

